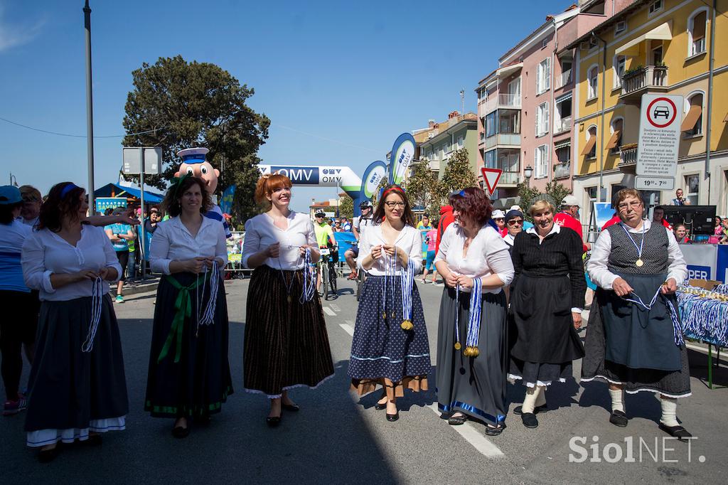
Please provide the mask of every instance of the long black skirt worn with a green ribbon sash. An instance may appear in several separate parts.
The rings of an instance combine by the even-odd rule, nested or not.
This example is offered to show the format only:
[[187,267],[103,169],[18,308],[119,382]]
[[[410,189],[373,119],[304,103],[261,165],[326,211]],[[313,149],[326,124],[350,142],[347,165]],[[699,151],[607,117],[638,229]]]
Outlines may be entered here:
[[[172,275],[181,285],[189,285],[196,275]],[[210,298],[209,281],[191,290],[190,317],[184,320],[181,355],[175,363],[175,338],[161,362],[157,362],[170,334],[175,318],[175,301],[180,290],[162,277],[157,287],[154,307],[154,327],[151,335],[149,374],[146,382],[144,410],[153,417],[207,417],[220,412],[222,403],[233,393],[228,363],[228,314],[225,287],[218,287],[213,323],[197,325],[198,307],[201,315]]]

